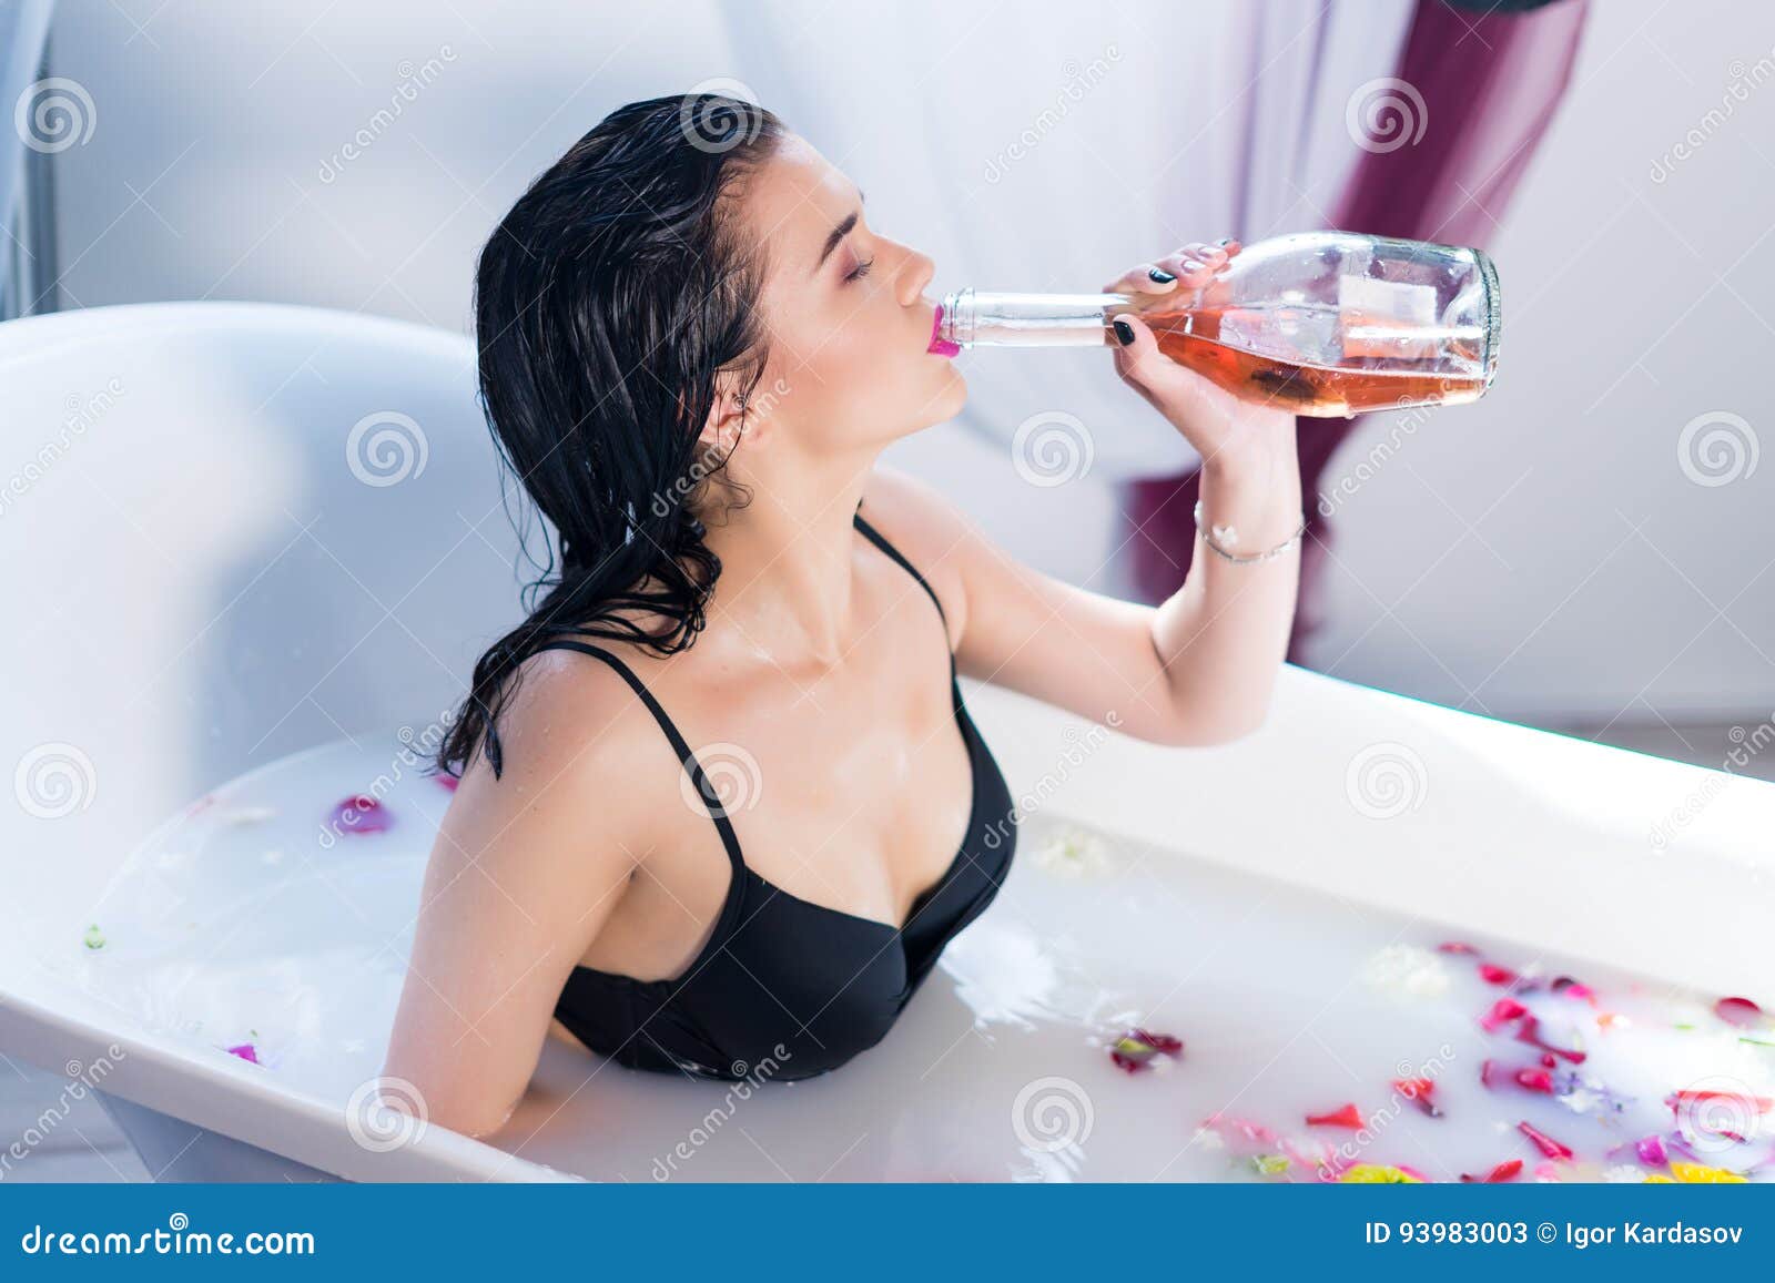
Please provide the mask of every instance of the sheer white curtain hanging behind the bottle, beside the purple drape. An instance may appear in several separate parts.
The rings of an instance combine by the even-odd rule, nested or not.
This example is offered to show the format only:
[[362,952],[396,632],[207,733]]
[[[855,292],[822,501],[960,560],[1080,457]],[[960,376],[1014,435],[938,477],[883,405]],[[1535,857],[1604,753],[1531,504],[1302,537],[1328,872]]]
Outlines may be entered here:
[[[722,9],[731,75],[937,261],[934,293],[1097,289],[1184,241],[1326,225],[1351,87],[1392,73],[1413,0]],[[1104,477],[1195,451],[1129,412],[1095,351],[976,351],[964,422],[1076,415]]]

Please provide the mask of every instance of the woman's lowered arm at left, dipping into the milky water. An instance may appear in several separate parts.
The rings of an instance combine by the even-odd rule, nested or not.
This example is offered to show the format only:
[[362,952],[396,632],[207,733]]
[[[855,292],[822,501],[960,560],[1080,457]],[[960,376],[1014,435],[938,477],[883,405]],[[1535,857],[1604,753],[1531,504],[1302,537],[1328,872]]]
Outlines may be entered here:
[[[550,680],[561,660],[529,662],[501,717],[502,777],[477,760],[438,827],[382,1070],[414,1084],[430,1122],[467,1136],[499,1130],[524,1098],[561,988],[641,841],[612,728],[627,687]],[[550,722],[605,733],[548,735]]]

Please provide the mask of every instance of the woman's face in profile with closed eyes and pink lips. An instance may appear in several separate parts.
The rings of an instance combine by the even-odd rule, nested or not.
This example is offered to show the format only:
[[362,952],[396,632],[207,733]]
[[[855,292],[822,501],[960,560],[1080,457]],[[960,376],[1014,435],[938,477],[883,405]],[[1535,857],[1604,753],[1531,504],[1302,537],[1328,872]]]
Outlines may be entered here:
[[848,453],[962,408],[960,373],[928,351],[932,261],[873,231],[848,177],[786,135],[753,174],[740,208],[767,256],[770,348],[747,403],[747,435],[761,429],[813,451]]

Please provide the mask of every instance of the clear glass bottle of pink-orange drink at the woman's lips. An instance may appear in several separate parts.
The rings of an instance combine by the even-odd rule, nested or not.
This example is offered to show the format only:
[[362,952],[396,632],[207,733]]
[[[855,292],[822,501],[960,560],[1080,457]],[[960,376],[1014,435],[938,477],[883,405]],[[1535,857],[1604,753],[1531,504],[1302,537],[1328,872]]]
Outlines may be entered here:
[[1113,344],[1138,312],[1175,362],[1250,401],[1335,417],[1477,401],[1498,373],[1498,270],[1477,248],[1299,232],[1241,248],[1200,289],[1014,295],[958,289],[937,344]]

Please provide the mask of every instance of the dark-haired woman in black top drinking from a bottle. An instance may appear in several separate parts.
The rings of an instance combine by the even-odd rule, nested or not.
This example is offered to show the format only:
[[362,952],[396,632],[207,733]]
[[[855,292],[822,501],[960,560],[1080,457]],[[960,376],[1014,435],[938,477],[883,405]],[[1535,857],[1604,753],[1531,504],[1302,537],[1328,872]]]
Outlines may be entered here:
[[[1145,305],[1237,248],[1108,289]],[[1294,417],[1120,318],[1115,366],[1203,456],[1230,555],[1157,609],[1049,579],[875,467],[966,399],[930,279],[808,142],[715,96],[612,112],[488,240],[481,394],[561,568],[438,754],[462,781],[385,1063],[435,1122],[499,1130],[550,1031],[715,1079],[880,1042],[1012,861],[957,673],[1159,744],[1264,720]]]

